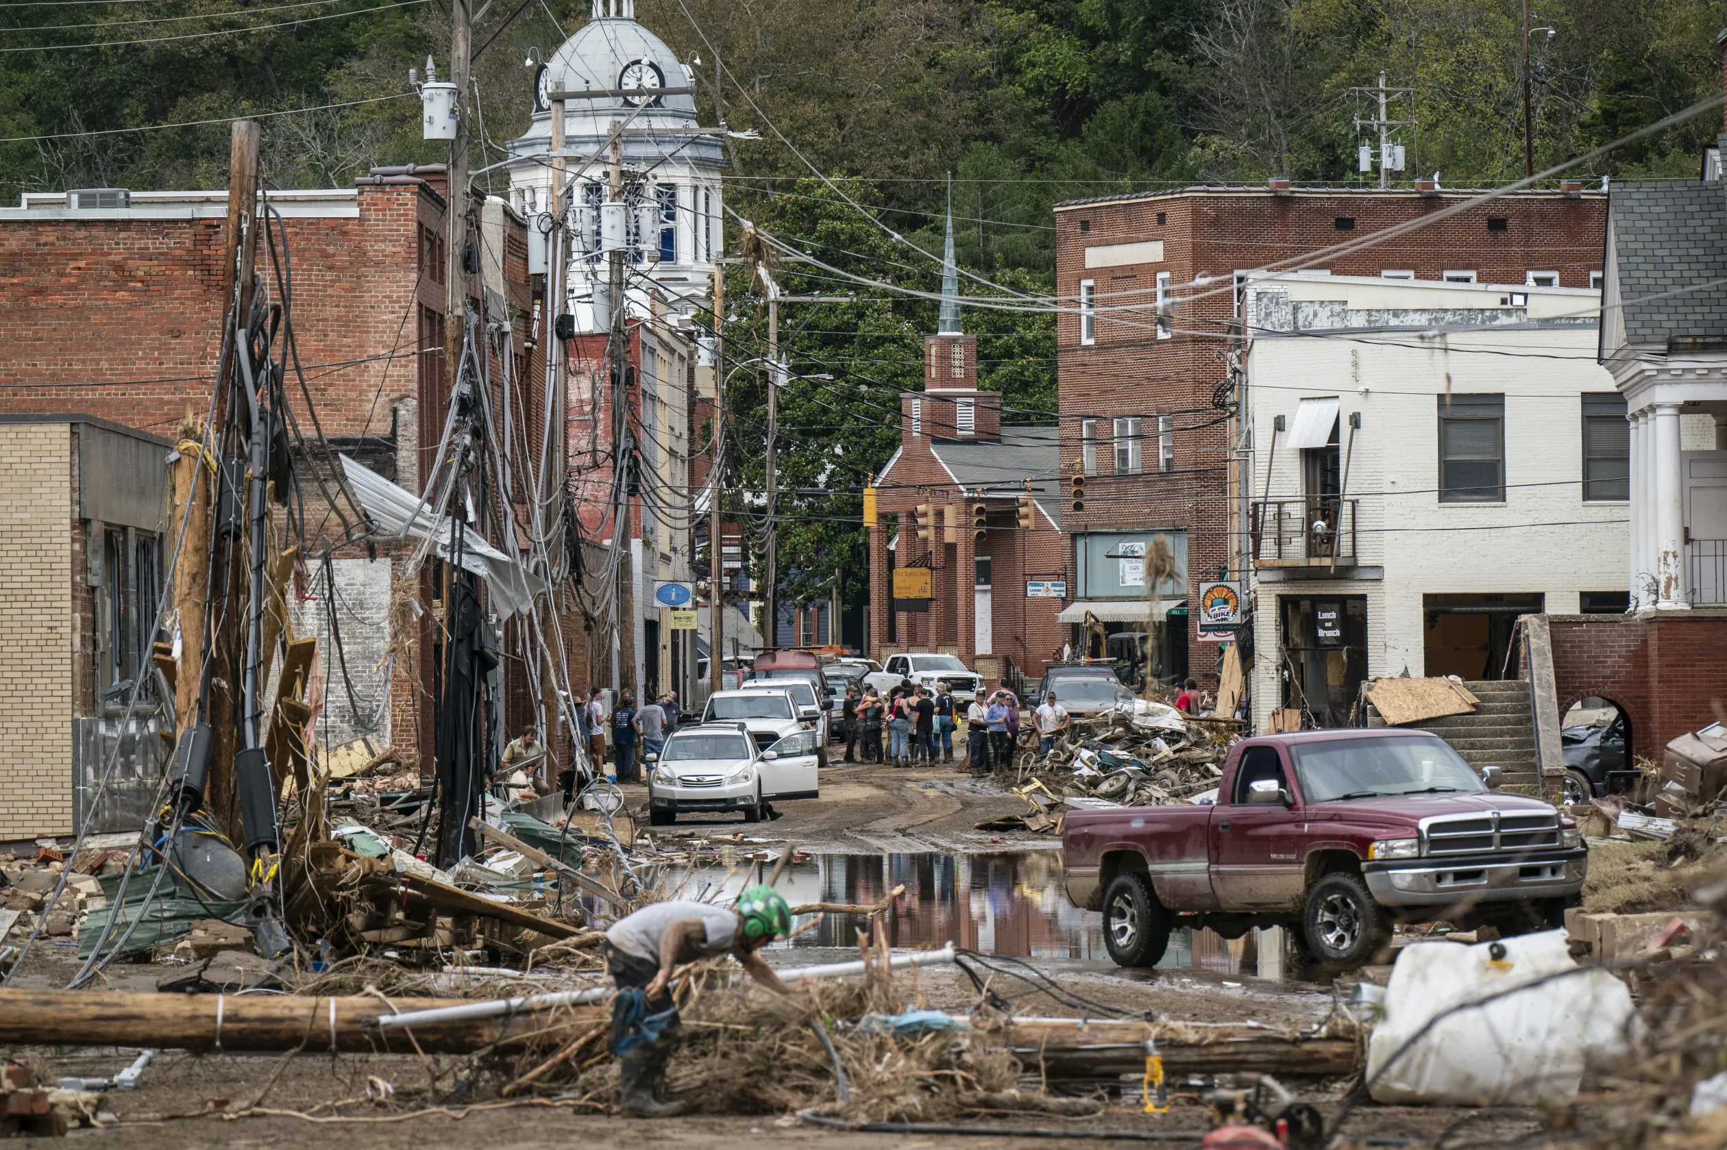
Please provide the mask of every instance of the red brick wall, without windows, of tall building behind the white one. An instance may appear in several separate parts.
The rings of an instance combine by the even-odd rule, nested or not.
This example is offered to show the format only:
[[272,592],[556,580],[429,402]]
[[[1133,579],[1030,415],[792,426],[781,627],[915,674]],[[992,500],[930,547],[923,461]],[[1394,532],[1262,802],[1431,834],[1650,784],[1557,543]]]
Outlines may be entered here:
[[[1186,528],[1188,582],[1212,577],[1231,561],[1228,451],[1231,425],[1212,404],[1228,376],[1224,356],[1233,316],[1231,281],[1238,269],[1266,266],[1373,231],[1428,216],[1466,193],[1421,197],[1416,192],[1295,192],[1273,195],[1240,188],[1173,192],[1093,204],[1069,204],[1055,212],[1057,290],[1078,300],[1079,281],[1098,294],[1097,342],[1079,342],[1072,311],[1057,321],[1062,475],[1072,473],[1081,451],[1081,420],[1098,420],[1097,475],[1086,482],[1086,506],[1064,513],[1066,532]],[[1159,223],[1159,214],[1162,221]],[[1340,231],[1338,218],[1354,219]],[[1502,218],[1504,231],[1490,231]],[[1439,280],[1447,269],[1473,269],[1480,283],[1523,283],[1525,271],[1558,271],[1561,287],[1589,287],[1601,269],[1606,199],[1539,192],[1502,197],[1430,228],[1364,250],[1318,259],[1333,275],[1378,276],[1389,268]],[[1083,230],[1081,230],[1083,228]],[[1085,249],[1162,240],[1157,264],[1085,268]],[[1155,335],[1155,273],[1171,273],[1178,307],[1171,338]],[[1212,287],[1185,287],[1214,276]],[[1190,299],[1183,299],[1190,297]],[[1114,304],[1133,311],[1110,313]],[[1157,473],[1154,440],[1143,440],[1145,473],[1114,475],[1114,416],[1174,416],[1174,470]],[[1142,435],[1150,428],[1142,425]],[[1066,492],[1064,492],[1066,496]],[[1064,499],[1064,508],[1066,499]],[[1199,613],[1188,616],[1195,622]],[[1193,635],[1190,634],[1190,639]],[[1214,682],[1202,660],[1214,651],[1190,644],[1193,673]],[[1212,651],[1211,654],[1207,654]]]

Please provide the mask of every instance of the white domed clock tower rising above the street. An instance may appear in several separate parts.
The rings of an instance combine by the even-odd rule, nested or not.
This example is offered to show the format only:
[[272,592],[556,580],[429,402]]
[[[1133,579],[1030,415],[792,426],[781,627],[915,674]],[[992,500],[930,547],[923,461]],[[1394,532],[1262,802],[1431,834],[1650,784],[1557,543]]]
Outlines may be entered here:
[[[558,48],[534,78],[534,117],[509,142],[511,202],[528,226],[546,230],[551,202],[551,93],[565,98],[565,178],[570,224],[582,233],[568,268],[568,311],[577,328],[603,330],[592,316],[599,257],[599,205],[608,199],[606,142],[623,121],[625,186],[630,192],[630,278],[646,276],[691,313],[708,294],[720,256],[720,173],[729,166],[712,130],[699,131],[694,73],[651,31],[636,22],[636,0],[594,0],[592,19]],[[656,90],[670,90],[663,95]],[[573,97],[594,92],[591,97]],[[636,93],[641,95],[636,95]],[[634,116],[634,119],[632,119]],[[634,297],[636,292],[630,292]]]

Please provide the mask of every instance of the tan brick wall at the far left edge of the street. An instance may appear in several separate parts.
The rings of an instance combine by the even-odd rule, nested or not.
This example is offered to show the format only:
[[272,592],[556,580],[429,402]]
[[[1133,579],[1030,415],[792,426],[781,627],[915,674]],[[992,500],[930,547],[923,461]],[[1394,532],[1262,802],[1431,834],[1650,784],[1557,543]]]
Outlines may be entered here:
[[0,425],[0,839],[73,831],[73,490],[66,423]]

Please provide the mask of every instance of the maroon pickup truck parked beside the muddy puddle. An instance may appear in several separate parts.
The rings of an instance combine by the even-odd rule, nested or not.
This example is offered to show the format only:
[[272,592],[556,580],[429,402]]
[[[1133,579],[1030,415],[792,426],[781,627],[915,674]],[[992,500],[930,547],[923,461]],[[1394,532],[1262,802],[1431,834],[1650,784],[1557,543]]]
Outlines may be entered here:
[[1577,824],[1483,774],[1418,730],[1242,739],[1216,806],[1069,812],[1067,898],[1104,912],[1124,967],[1155,965],[1176,926],[1299,927],[1328,967],[1371,962],[1395,922],[1559,926],[1589,867]]

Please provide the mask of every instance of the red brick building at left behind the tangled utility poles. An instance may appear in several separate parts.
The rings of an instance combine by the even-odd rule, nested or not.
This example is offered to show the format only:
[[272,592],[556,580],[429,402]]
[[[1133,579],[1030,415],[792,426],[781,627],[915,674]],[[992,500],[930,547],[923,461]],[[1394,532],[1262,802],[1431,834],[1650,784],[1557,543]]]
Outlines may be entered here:
[[[299,371],[288,357],[287,387],[299,430],[307,440],[321,430],[335,451],[411,492],[421,490],[437,463],[449,402],[444,180],[442,166],[387,167],[354,188],[268,197],[282,216],[271,238],[278,247],[285,238],[285,266],[292,268]],[[226,200],[225,190],[26,193],[21,207],[0,209],[0,330],[7,332],[0,414],[78,409],[150,435],[171,435],[188,413],[202,421],[221,338]],[[516,413],[516,437],[539,442],[546,345],[558,347],[541,338],[551,326],[542,278],[528,275],[525,226],[508,205],[477,202],[475,221],[478,271],[465,288],[490,325],[494,404],[508,402]],[[271,299],[280,299],[276,262],[263,240],[257,266]],[[508,395],[499,383],[506,357]],[[306,414],[307,395],[316,428]],[[357,532],[347,504],[337,501],[332,509],[319,499],[314,475],[330,483],[330,458],[321,449],[297,451],[295,466],[306,540],[294,625],[319,639],[321,656],[332,653],[338,630],[345,654],[344,667],[325,668],[319,746],[326,737],[333,746],[370,736],[430,774],[439,565],[421,566],[416,580],[402,578],[411,547],[352,542]],[[509,496],[516,521],[525,521],[525,483]],[[333,592],[321,570],[325,553]],[[563,632],[572,682],[585,686],[580,620],[568,620]],[[506,623],[506,656],[520,642]],[[387,651],[397,656],[385,658]],[[541,699],[532,680],[530,663],[504,660],[506,723],[535,713]]]

